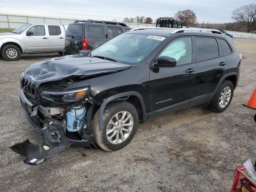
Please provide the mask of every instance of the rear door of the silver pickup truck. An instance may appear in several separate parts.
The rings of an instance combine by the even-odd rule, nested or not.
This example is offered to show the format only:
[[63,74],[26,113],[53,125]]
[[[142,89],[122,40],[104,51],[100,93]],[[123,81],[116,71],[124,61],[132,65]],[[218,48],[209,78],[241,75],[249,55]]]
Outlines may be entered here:
[[57,25],[48,25],[48,39],[49,39],[49,47],[50,50],[62,50],[64,47],[64,27],[60,27]]

